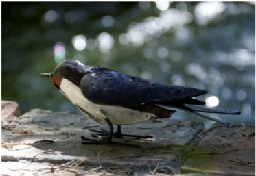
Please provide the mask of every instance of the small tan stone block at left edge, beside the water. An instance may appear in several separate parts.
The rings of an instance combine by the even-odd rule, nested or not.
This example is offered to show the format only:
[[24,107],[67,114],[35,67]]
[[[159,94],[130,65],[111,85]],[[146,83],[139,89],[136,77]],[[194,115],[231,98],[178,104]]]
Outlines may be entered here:
[[21,112],[19,110],[19,104],[14,101],[1,101],[1,116],[2,123],[6,119],[10,118],[10,116],[21,116]]

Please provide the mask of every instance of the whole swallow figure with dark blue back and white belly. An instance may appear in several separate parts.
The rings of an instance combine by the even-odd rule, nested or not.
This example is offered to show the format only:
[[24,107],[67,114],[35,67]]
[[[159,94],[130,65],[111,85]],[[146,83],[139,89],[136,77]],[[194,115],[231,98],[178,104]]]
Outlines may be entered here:
[[[51,73],[40,75],[49,78],[52,84],[86,116],[97,123],[108,125],[109,131],[91,129],[96,133],[92,134],[93,137],[107,136],[107,140],[82,136],[82,140],[87,141],[83,142],[86,144],[110,143],[113,135],[117,138],[152,138],[148,135],[122,134],[121,125],[170,118],[176,110],[183,110],[228,127],[233,125],[199,112],[241,114],[240,110],[213,110],[201,107],[200,105],[205,105],[205,101],[195,97],[207,94],[207,90],[158,83],[100,66],[86,66],[78,60],[64,60]],[[113,125],[117,125],[115,133]]]

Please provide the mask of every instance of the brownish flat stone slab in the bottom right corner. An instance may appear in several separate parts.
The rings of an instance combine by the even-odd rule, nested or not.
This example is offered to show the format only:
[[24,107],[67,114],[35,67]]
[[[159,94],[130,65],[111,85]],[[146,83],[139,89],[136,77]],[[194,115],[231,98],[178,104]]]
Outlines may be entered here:
[[[255,125],[244,127],[235,125],[229,128],[216,125],[205,132],[198,148],[191,155],[188,153],[182,172],[255,175]],[[203,154],[212,151],[212,154]],[[241,160],[251,166],[242,164]]]

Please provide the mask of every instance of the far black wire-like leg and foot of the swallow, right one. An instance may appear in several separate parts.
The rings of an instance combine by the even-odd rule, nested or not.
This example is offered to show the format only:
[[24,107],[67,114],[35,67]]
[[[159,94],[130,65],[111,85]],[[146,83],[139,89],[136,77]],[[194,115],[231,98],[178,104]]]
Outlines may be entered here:
[[[93,137],[95,136],[105,136],[105,135],[109,135],[108,130],[106,129],[100,129],[100,130],[96,130],[96,129],[90,129],[90,131],[95,132],[97,134],[92,134]],[[113,133],[113,135],[115,135],[116,138],[122,138],[122,137],[128,137],[128,138],[153,138],[153,136],[140,136],[140,135],[132,135],[132,134],[122,134],[121,133],[121,125],[117,125],[117,131],[115,133]]]

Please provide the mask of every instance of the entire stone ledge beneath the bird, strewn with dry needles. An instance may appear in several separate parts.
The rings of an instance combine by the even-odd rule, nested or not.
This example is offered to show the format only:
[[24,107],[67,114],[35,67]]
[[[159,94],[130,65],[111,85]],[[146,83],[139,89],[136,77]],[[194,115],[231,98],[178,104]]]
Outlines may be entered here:
[[[120,144],[95,145],[82,144],[80,136],[92,138],[89,129],[108,126],[80,114],[34,109],[8,122],[2,127],[3,174],[252,175],[255,171],[254,126],[204,131],[198,121],[177,123],[168,118],[122,126],[124,134],[153,135],[152,140],[113,138]],[[247,165],[229,161],[237,158]]]

